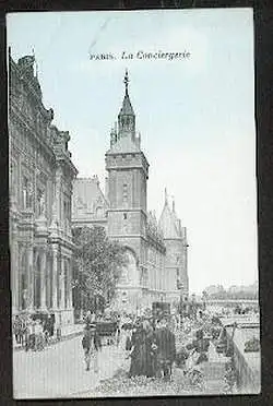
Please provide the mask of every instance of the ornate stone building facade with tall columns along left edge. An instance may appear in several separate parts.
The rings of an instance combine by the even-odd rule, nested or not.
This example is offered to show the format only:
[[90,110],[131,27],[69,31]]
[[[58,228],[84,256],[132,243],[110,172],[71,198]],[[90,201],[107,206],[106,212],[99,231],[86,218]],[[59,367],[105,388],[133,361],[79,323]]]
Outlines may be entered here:
[[35,59],[9,55],[10,251],[13,314],[73,323],[71,195],[78,174],[69,132],[43,104]]

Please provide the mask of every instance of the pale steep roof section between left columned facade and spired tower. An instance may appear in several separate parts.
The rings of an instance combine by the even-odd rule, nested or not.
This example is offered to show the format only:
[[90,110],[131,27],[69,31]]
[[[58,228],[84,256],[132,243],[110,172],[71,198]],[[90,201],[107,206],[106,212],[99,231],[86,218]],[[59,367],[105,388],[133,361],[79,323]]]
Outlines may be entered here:
[[[78,216],[97,218],[97,210],[108,208],[108,202],[100,189],[98,178],[78,178],[73,184],[72,217]],[[102,217],[102,214],[100,216]]]

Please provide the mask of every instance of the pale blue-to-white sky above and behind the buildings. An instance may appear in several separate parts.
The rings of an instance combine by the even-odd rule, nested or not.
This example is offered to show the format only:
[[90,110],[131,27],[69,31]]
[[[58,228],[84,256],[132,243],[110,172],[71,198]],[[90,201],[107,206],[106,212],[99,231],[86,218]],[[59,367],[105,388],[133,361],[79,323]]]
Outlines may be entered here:
[[[15,60],[35,48],[44,104],[71,134],[80,177],[98,175],[129,94],[151,165],[149,208],[164,188],[188,229],[190,290],[258,279],[253,17],[251,9],[38,12],[8,15]],[[122,51],[188,60],[121,60]],[[88,52],[117,56],[91,61]]]

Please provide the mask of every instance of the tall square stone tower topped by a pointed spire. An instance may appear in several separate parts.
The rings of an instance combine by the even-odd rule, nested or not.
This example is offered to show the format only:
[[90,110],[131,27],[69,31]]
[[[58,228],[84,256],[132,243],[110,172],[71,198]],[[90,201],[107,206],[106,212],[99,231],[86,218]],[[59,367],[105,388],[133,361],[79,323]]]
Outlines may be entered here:
[[128,264],[118,284],[118,299],[128,309],[138,309],[146,264],[146,188],[149,163],[135,134],[135,115],[124,75],[124,97],[118,128],[111,130],[106,153],[108,172],[108,236],[126,247]]

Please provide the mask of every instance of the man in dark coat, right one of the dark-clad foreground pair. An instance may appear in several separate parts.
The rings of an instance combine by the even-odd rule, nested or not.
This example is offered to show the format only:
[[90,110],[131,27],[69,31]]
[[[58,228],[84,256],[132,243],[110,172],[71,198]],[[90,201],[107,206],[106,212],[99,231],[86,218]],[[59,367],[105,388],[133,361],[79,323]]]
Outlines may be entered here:
[[162,318],[155,331],[155,345],[157,355],[157,375],[170,379],[171,367],[176,358],[176,338],[167,325],[166,318]]

